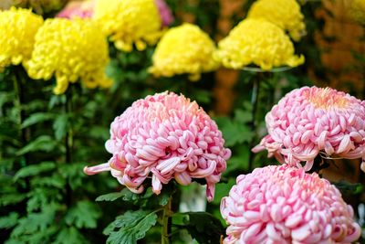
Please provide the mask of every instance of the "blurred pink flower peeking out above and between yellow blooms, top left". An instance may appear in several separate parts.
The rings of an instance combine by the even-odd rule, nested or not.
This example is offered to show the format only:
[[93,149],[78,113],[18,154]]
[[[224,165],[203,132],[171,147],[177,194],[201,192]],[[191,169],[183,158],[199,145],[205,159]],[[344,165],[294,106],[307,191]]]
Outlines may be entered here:
[[70,1],[64,9],[57,14],[63,18],[90,18],[94,14],[95,0]]

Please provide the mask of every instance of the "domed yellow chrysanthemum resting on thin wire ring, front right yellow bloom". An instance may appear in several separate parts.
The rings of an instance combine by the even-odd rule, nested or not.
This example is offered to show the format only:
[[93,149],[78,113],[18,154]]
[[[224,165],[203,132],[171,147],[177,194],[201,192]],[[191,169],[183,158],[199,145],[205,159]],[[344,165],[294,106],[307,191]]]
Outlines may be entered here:
[[215,58],[227,68],[255,64],[263,70],[296,67],[304,57],[294,55],[293,43],[284,31],[264,19],[245,19],[218,44]]

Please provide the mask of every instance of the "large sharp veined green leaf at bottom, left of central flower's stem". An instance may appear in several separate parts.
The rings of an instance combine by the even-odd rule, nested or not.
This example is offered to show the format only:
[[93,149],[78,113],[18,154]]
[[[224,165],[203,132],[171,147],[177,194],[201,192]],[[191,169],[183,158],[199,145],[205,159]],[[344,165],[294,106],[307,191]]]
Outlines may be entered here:
[[[117,217],[104,231],[110,234],[107,239],[108,244],[137,243],[138,239],[143,239],[146,232],[156,224],[157,215],[155,212],[144,210],[127,211],[124,215]],[[120,228],[113,231],[114,228]]]

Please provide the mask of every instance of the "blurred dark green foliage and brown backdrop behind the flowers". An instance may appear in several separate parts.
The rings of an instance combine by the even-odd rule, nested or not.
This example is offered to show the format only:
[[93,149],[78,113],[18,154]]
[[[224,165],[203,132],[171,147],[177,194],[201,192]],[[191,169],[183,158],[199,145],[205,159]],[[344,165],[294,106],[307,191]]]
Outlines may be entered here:
[[[245,18],[255,1],[165,2],[170,6],[174,18],[170,27],[184,22],[194,23],[217,43]],[[151,66],[155,47],[127,53],[110,44],[107,74],[115,81],[113,87],[110,90],[75,87],[78,96],[73,98],[74,110],[71,115],[52,115],[49,119],[43,117],[44,120],[38,121],[33,118],[34,121],[28,121],[26,126],[19,125],[27,130],[27,142],[38,140],[31,146],[19,144],[21,140],[17,138],[21,135],[19,126],[14,124],[18,122],[19,111],[14,105],[12,82],[8,82],[10,70],[0,73],[0,242],[105,242],[107,237],[102,235],[102,230],[108,223],[126,209],[139,206],[123,201],[94,203],[97,196],[120,190],[122,186],[109,174],[90,178],[83,174],[82,168],[87,164],[100,164],[109,160],[110,154],[104,149],[104,143],[109,139],[110,122],[114,117],[120,115],[133,101],[164,90],[182,92],[197,101],[217,122],[224,133],[225,145],[233,152],[222,182],[216,186],[213,203],[205,206],[204,201],[194,202],[194,199],[201,197],[198,185],[182,186],[181,189],[180,207],[185,210],[206,207],[224,224],[219,213],[220,199],[227,196],[231,186],[235,185],[235,177],[258,166],[275,164],[273,159],[266,158],[266,152],[256,154],[251,158],[251,164],[249,159],[250,148],[266,134],[266,112],[280,98],[290,90],[316,85],[343,90],[361,100],[365,99],[365,13],[360,17],[355,16],[351,12],[352,2],[298,1],[305,17],[307,35],[299,42],[294,42],[294,45],[296,53],[303,54],[306,62],[283,72],[260,75],[246,70],[220,68],[203,73],[197,82],[188,80],[184,75],[154,78],[147,69]],[[2,0],[0,8],[7,9],[11,5],[29,7],[39,15],[52,17],[67,4],[65,0]],[[255,114],[257,127],[253,131],[251,97],[255,79],[260,80],[260,90]],[[22,110],[27,114],[62,111],[66,97],[51,94],[53,83],[32,80],[31,85],[26,86],[26,100],[29,102]],[[65,132],[70,122],[74,131],[74,164],[58,165],[63,160]],[[46,134],[53,143],[49,143],[45,137],[39,139],[41,134]],[[39,164],[42,166],[19,173],[25,166]],[[365,203],[365,176],[360,171],[360,162],[336,160],[321,174],[337,184],[346,202],[354,207],[356,217],[364,225],[365,209],[361,204]],[[158,234],[157,238],[153,231],[148,235],[147,240],[141,243],[158,243]],[[177,235],[174,241],[185,243],[188,240]]]

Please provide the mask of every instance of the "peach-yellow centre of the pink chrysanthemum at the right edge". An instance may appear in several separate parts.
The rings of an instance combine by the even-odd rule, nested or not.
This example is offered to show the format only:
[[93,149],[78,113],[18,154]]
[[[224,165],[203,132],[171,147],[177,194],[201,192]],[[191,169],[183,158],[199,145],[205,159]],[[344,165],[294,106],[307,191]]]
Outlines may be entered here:
[[344,93],[329,88],[306,90],[305,96],[317,109],[328,110],[330,108],[342,109],[348,105]]

